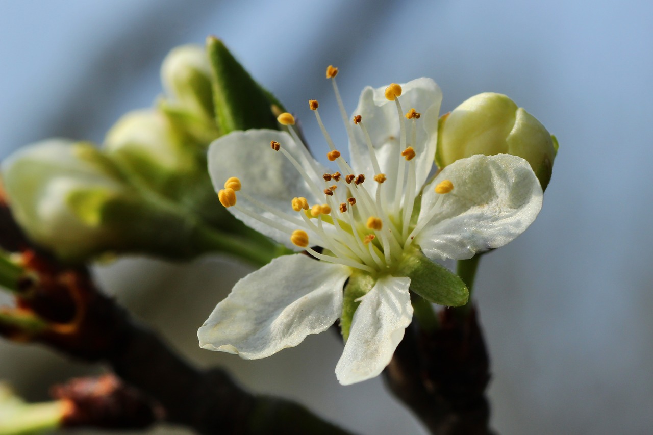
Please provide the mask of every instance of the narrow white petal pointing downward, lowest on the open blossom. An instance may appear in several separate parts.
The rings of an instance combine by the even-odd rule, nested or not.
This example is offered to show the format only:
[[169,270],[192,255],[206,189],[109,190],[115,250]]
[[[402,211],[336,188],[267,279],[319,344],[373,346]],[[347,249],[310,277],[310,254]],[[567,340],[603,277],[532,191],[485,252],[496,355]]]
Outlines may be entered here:
[[413,318],[410,278],[385,276],[361,298],[336,377],[349,385],[378,376],[392,359]]

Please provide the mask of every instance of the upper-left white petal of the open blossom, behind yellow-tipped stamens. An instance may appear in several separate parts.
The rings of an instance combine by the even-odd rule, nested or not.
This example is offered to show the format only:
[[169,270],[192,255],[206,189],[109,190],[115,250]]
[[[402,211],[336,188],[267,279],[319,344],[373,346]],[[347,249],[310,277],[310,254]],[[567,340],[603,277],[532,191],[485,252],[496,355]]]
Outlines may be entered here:
[[[296,144],[287,133],[264,129],[234,131],[215,140],[208,150],[208,170],[215,191],[223,189],[228,178],[233,176],[240,178],[242,189],[241,192],[236,192],[236,204],[258,216],[273,219],[287,231],[280,231],[230,207],[229,211],[234,216],[259,233],[273,238],[288,248],[297,250],[298,248],[290,242],[289,237],[293,230],[298,229],[298,225],[285,219],[279,219],[278,214],[247,201],[242,195],[242,193],[246,193],[265,206],[289,214],[299,221],[301,221],[301,217],[293,211],[291,206],[294,197],[305,197],[310,205],[324,202],[323,199],[317,199],[314,191],[311,191],[306,181],[285,155],[270,148],[271,140],[279,142],[285,150],[293,155],[312,180],[318,182],[325,172],[330,172],[312,157],[307,158],[307,154],[299,148],[301,145]],[[241,194],[239,195],[239,193]],[[309,236],[311,239],[313,238],[313,234],[309,233]]]

